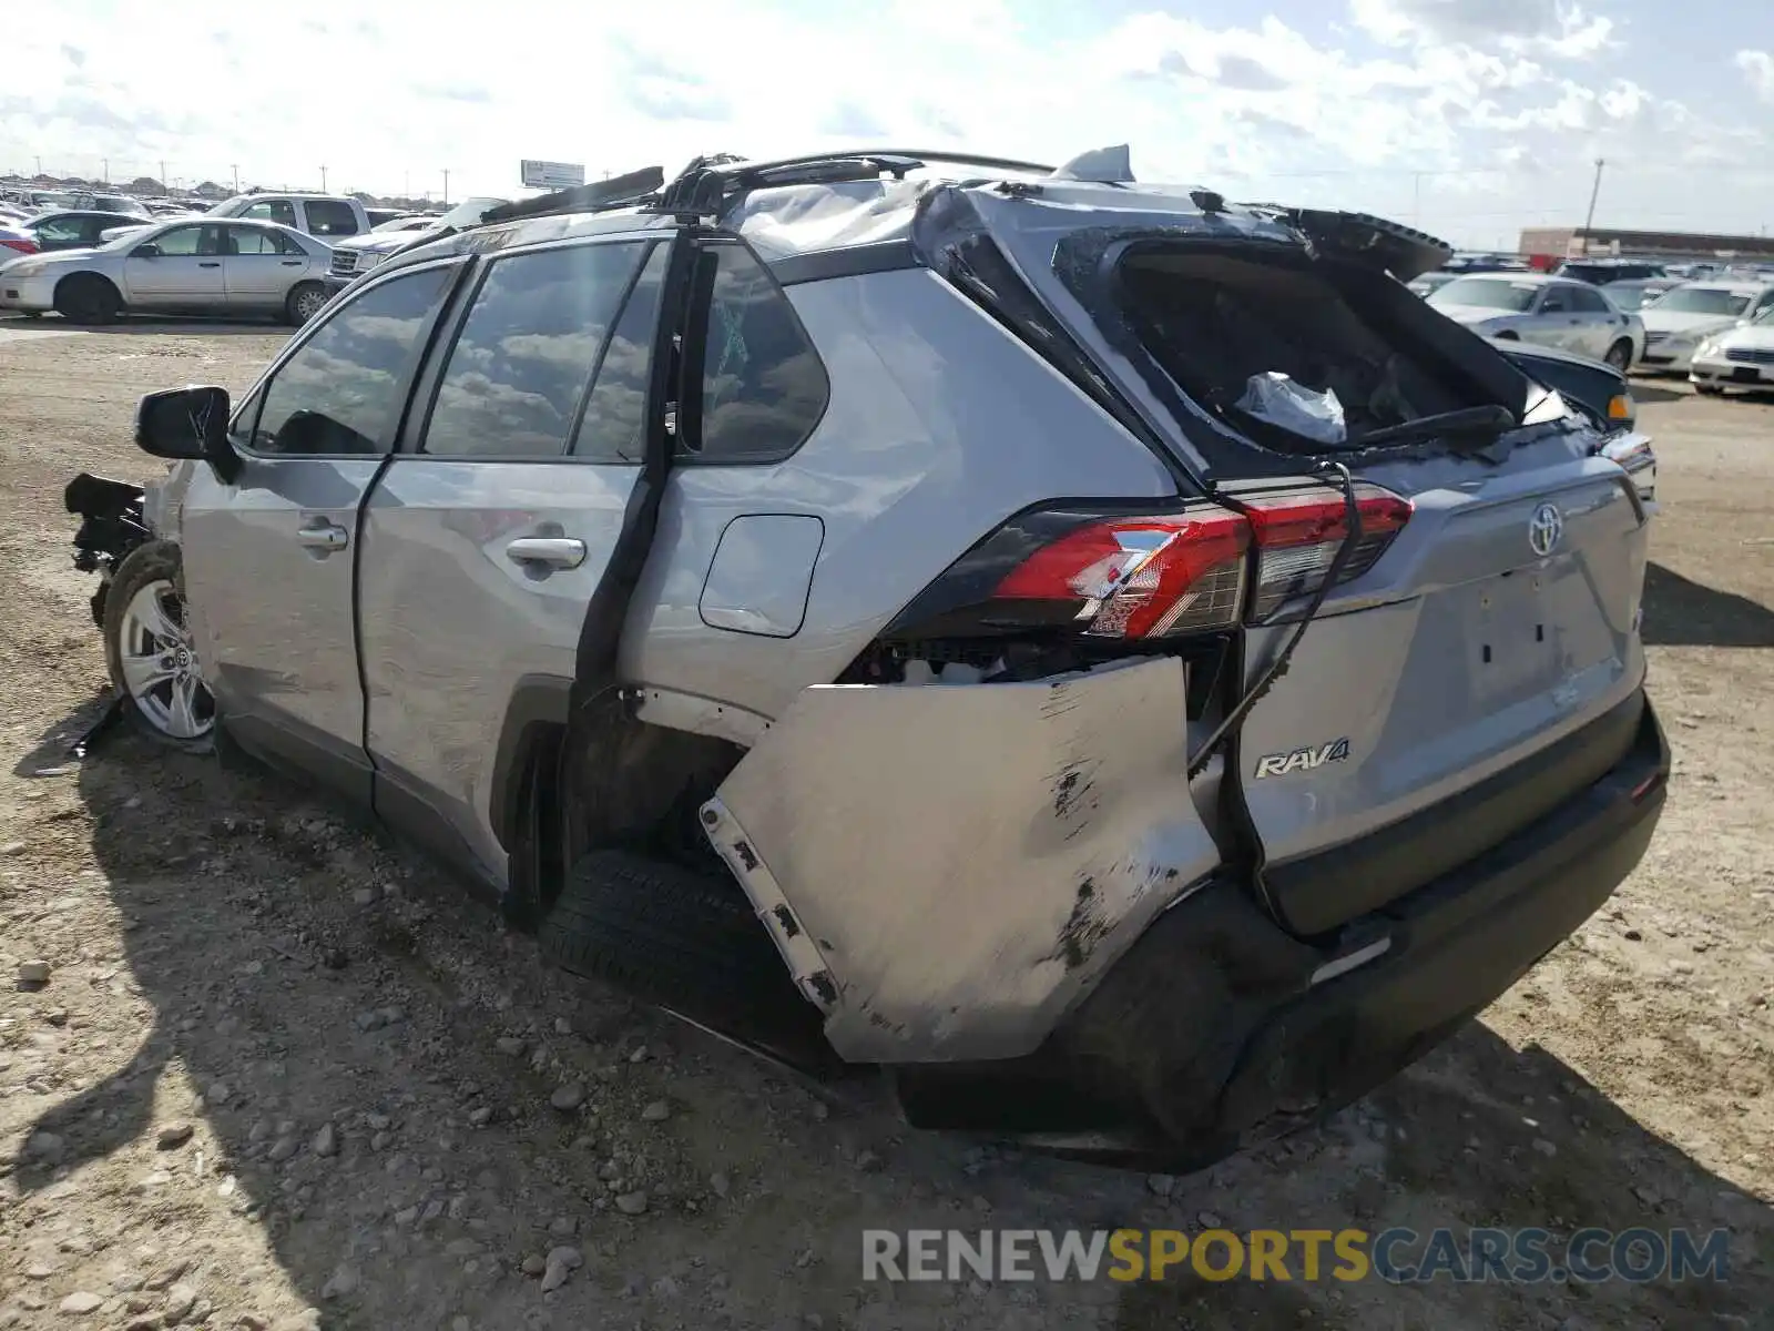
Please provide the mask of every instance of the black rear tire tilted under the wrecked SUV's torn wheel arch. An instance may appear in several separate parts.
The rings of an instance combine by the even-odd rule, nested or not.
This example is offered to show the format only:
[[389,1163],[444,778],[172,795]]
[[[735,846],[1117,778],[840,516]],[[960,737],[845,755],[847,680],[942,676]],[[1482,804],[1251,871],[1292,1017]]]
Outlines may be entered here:
[[823,1040],[820,1012],[731,878],[594,850],[573,866],[538,941],[564,971],[740,1040]]

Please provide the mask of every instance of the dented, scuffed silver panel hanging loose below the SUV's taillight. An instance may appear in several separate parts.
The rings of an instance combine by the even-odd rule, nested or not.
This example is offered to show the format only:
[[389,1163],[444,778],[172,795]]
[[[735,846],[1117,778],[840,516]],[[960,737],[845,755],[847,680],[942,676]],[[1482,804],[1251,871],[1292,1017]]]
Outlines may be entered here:
[[1029,1052],[1213,870],[1183,683],[1157,658],[795,699],[704,825],[804,988],[828,976],[843,1058]]

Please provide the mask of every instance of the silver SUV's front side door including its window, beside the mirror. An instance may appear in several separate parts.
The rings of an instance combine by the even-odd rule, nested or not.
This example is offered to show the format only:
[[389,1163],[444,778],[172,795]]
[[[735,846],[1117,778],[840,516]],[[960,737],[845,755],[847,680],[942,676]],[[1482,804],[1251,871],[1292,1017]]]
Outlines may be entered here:
[[229,735],[364,800],[358,509],[454,273],[401,273],[316,325],[236,412],[239,476],[199,469],[183,506],[197,655]]

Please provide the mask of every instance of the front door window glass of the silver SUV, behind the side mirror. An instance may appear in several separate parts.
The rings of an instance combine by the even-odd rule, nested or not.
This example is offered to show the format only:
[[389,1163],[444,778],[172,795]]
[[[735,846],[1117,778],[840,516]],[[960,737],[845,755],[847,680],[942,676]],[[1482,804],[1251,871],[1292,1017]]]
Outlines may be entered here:
[[385,453],[406,367],[452,270],[406,273],[362,293],[302,344],[264,389],[252,431],[257,453]]

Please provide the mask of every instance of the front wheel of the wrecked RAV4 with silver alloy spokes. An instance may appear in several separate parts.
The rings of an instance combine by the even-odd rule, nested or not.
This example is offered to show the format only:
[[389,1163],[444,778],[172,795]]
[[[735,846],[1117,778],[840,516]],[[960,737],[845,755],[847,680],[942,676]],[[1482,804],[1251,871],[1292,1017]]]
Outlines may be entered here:
[[172,541],[149,541],[105,593],[105,664],[138,731],[181,752],[215,745],[215,697],[184,616],[184,566]]

